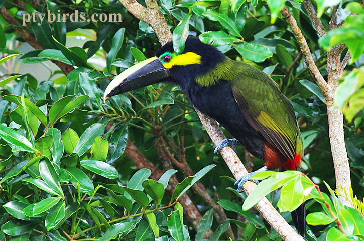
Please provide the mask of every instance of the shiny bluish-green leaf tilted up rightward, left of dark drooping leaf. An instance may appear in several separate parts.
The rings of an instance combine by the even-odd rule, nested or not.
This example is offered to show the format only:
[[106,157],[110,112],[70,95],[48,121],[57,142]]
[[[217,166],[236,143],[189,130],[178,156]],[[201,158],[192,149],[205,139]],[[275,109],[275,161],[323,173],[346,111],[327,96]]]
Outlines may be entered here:
[[87,152],[93,144],[93,140],[97,136],[101,136],[105,130],[105,125],[101,123],[95,123],[89,126],[81,135],[78,140],[74,153],[78,154],[78,156],[82,156],[85,152]]

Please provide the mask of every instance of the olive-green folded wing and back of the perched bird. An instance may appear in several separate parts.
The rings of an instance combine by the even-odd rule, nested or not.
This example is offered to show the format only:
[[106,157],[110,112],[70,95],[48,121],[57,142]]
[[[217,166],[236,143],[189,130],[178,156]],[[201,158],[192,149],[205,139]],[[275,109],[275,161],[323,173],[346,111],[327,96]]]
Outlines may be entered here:
[[285,157],[303,154],[301,134],[289,100],[277,84],[262,71],[239,65],[231,81],[232,93],[248,123]]

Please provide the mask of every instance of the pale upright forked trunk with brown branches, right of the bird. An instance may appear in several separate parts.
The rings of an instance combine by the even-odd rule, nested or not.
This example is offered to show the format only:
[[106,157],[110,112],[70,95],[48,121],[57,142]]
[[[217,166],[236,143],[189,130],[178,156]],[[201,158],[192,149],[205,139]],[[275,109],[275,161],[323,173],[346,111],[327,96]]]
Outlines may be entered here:
[[[313,9],[311,1],[305,0],[304,3],[307,12],[309,13],[310,18],[314,23],[319,35],[322,36],[325,33],[325,31],[323,31],[322,29],[323,26],[321,21],[316,17],[316,12]],[[329,30],[341,26],[341,24],[336,25],[336,11],[337,11],[337,6],[335,6],[333,9],[332,17],[329,23]],[[339,187],[341,187],[342,189],[349,190],[351,183],[350,166],[345,147],[343,115],[340,109],[335,109],[333,107],[335,90],[338,86],[338,79],[340,78],[340,74],[342,72],[341,67],[346,66],[347,61],[349,59],[349,54],[345,56],[343,62],[340,63],[340,55],[343,49],[345,48],[344,44],[338,44],[327,52],[327,82],[326,82],[323,79],[321,73],[319,72],[313,60],[311,51],[308,47],[308,44],[304,36],[301,33],[300,28],[297,25],[296,20],[292,17],[291,13],[288,11],[286,7],[283,8],[281,13],[286,18],[287,23],[289,24],[292,32],[294,33],[295,38],[300,45],[300,49],[303,53],[307,67],[326,99],[329,138],[330,138],[332,159],[335,168],[336,189],[340,190]],[[339,199],[344,205],[352,206],[351,203],[344,196],[339,196]]]

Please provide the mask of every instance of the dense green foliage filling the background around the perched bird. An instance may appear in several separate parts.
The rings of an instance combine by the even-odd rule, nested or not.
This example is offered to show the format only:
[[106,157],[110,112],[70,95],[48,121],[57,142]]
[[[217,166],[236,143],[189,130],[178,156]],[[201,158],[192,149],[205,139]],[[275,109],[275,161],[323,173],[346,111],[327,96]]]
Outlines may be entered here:
[[[270,3],[158,2],[168,25],[174,30],[175,48],[183,48],[180,36],[188,29],[190,35],[212,43],[230,58],[250,63],[271,74],[297,113],[306,154],[302,171],[316,184],[322,184],[325,180],[334,186],[335,175],[323,95],[310,81],[310,73],[287,23],[279,15],[272,22],[275,7],[269,6]],[[96,240],[101,234],[104,234],[104,240],[110,240],[115,235],[119,239],[183,240],[187,238],[187,230],[191,240],[200,240],[203,238],[201,233],[210,228],[214,234],[209,236],[209,240],[228,240],[228,236],[239,239],[241,229],[244,229],[244,240],[280,239],[254,210],[241,210],[239,206],[246,196],[234,191],[232,179],[228,178],[231,176],[230,171],[220,156],[213,153],[209,137],[178,87],[158,84],[112,97],[103,104],[103,90],[115,74],[136,61],[143,60],[145,56],[154,56],[160,45],[151,27],[128,14],[122,4],[116,1],[0,1],[0,4],[4,5],[3,18],[0,18],[2,57],[21,55],[3,61],[0,67],[3,76],[0,82],[1,122],[9,127],[0,130],[0,154],[3,158],[0,162],[0,197],[2,205],[5,204],[1,209],[2,240],[6,234],[12,236],[12,239],[24,240],[64,240],[71,237]],[[321,14],[320,19],[327,27],[333,10],[328,6],[320,6],[319,1],[316,5]],[[346,67],[348,72],[337,93],[337,104],[343,108],[348,119],[345,121],[345,143],[350,158],[353,193],[360,200],[364,196],[364,139],[360,131],[363,126],[364,113],[361,109],[364,83],[363,70],[359,67],[363,65],[364,57],[363,50],[355,46],[360,46],[362,41],[362,29],[358,26],[364,24],[364,14],[358,8],[358,3],[351,4],[351,8],[347,5],[348,2],[344,2],[338,7],[338,21],[344,20],[348,11],[357,15],[350,16],[350,21],[345,20],[340,28],[342,32],[336,31],[339,33],[333,33],[319,41],[305,8],[298,2],[286,3],[298,21],[324,77],[327,75],[324,48],[345,42],[350,50],[355,51],[351,53],[354,61]],[[19,28],[5,16],[6,10],[13,19],[21,22],[23,11],[42,13],[47,9],[53,12],[59,9],[62,13],[73,13],[78,9],[87,16],[93,13],[120,13],[123,22],[67,21],[51,25],[43,22],[40,26],[37,25],[39,22],[35,22],[22,27],[28,34],[22,35],[15,32]],[[181,20],[181,24],[176,27]],[[357,36],[348,33],[356,33]],[[29,37],[33,35],[34,40]],[[351,36],[351,39],[344,38],[345,36]],[[38,43],[45,50],[31,50],[24,42],[31,43],[32,46]],[[55,68],[49,60],[60,61],[57,64],[63,71]],[[69,64],[78,68],[69,69],[72,71],[66,76],[64,72]],[[26,71],[25,65],[32,66],[31,70]],[[39,74],[38,69],[41,68],[48,72]],[[15,75],[19,73],[21,76]],[[24,97],[16,97],[22,95]],[[225,134],[229,136],[228,133]],[[10,140],[9,136],[15,139]],[[124,151],[126,153],[122,155]],[[253,169],[263,165],[263,161],[258,159],[253,162],[245,154],[244,148],[239,147],[238,153],[242,160],[246,160],[247,166],[254,163]],[[176,180],[181,182],[208,165],[218,165],[218,168],[213,168],[201,180],[198,187],[193,187],[194,192],[187,192],[194,207],[186,205],[186,199],[180,199],[185,211],[185,228],[179,215],[183,212],[182,205],[169,205],[173,195],[168,187],[165,193],[162,191],[165,186],[151,188],[159,191],[163,197],[160,200],[148,192],[151,189],[145,187],[147,184],[142,186],[139,182],[133,182],[132,177],[134,180],[144,180],[150,174],[145,169],[137,172],[143,158],[154,165],[154,171],[171,168],[179,170],[175,174],[174,185]],[[169,174],[171,173],[172,171]],[[159,179],[153,174],[151,177]],[[40,184],[36,180],[43,180],[48,186],[41,188],[44,183]],[[191,182],[194,182],[192,178],[187,178],[180,187],[186,187]],[[151,185],[158,186],[155,183]],[[325,185],[321,185],[321,188],[326,191]],[[147,201],[145,194],[135,189],[145,189],[145,194],[161,203],[160,208],[166,208],[150,212],[154,215],[148,214],[147,209],[155,208],[155,202],[150,202],[150,199]],[[178,195],[172,197],[172,203],[176,196]],[[279,191],[269,195],[275,206],[279,197]],[[133,199],[137,202],[131,208],[130,200]],[[210,208],[214,207],[216,212],[220,204],[226,209],[225,215],[236,221],[222,221],[216,214],[213,217]],[[123,219],[121,224],[110,227],[118,218],[123,218],[128,213],[138,213],[141,206],[143,215]],[[308,212],[316,212],[321,210],[321,206],[310,201],[307,209]],[[224,211],[219,210],[220,214],[222,212]],[[58,214],[54,216],[55,213]],[[167,218],[171,213],[170,217],[176,217],[174,221]],[[204,215],[205,221],[200,227],[193,214],[200,217]],[[290,221],[288,213],[284,217]],[[332,221],[325,223],[331,223],[328,226],[310,226],[312,230],[308,238],[324,239],[327,231],[335,226]],[[130,226],[126,223],[130,223]],[[95,228],[88,229],[90,227]],[[266,234],[266,229],[269,230],[269,235]],[[183,237],[176,236],[181,230],[184,230]],[[226,234],[223,234],[225,231]],[[211,230],[208,231],[208,234],[211,233]]]

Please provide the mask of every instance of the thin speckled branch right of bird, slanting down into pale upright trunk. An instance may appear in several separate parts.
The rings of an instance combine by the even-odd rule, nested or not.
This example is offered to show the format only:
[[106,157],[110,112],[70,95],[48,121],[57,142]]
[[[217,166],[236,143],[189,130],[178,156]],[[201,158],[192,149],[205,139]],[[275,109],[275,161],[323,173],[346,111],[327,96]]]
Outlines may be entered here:
[[303,57],[307,64],[307,68],[310,71],[311,75],[315,79],[317,85],[320,87],[323,95],[326,99],[332,99],[333,93],[331,91],[331,87],[326,83],[324,78],[322,77],[320,71],[318,70],[315,61],[312,57],[310,48],[306,42],[305,37],[303,37],[300,28],[297,25],[297,21],[293,18],[292,14],[288,11],[286,7],[281,10],[282,15],[286,18],[288,25],[290,26],[299,46],[303,53]]

